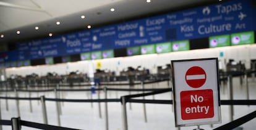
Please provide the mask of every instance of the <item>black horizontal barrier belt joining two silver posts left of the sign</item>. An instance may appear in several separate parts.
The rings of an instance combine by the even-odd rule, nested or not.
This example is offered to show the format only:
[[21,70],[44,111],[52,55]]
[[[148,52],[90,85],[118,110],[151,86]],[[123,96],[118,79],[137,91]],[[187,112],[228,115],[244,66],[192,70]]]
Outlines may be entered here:
[[45,100],[56,102],[120,102],[120,99],[51,99],[45,98]]

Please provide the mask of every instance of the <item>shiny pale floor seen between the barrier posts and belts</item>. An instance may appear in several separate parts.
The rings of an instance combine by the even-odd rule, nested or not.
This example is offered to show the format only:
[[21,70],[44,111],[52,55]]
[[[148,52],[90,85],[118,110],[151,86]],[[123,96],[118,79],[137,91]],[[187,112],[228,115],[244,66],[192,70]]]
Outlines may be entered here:
[[[240,84],[239,78],[233,79],[234,85],[234,99],[246,99],[246,87],[245,84]],[[111,86],[110,86],[111,87]],[[112,86],[113,87],[113,86]],[[116,86],[115,86],[116,87]],[[127,87],[127,86],[119,86]],[[135,86],[141,88],[141,86]],[[147,84],[147,88],[151,87],[168,87],[166,82]],[[137,94],[139,92],[132,92]],[[123,91],[109,91],[108,97],[115,99],[120,98],[121,95],[127,95],[129,92]],[[6,93],[2,92],[1,96],[5,96]],[[54,92],[40,92],[31,93],[31,97],[39,97],[45,95],[46,97],[54,98]],[[228,99],[228,89],[226,85],[220,88],[221,99]],[[14,97],[14,92],[8,93],[9,97]],[[19,97],[28,97],[28,92],[19,92]],[[100,92],[100,97],[104,97],[104,92]],[[256,79],[252,81],[249,79],[249,97],[250,99],[256,99]],[[61,98],[65,99],[88,99],[90,98],[90,92],[61,92]],[[146,99],[171,99],[171,92],[164,94],[157,94],[154,97],[152,95],[147,96]],[[98,99],[97,94],[93,94],[93,99]],[[1,99],[1,118],[4,120],[11,120],[12,117],[17,116],[17,107],[15,100],[7,100],[9,110],[6,110],[6,100]],[[101,103],[102,118],[99,117],[98,103],[61,103],[61,126],[76,129],[88,129],[88,130],[101,130],[105,129],[105,104]],[[20,100],[20,115],[22,120],[33,121],[37,123],[43,123],[43,116],[41,112],[41,104],[37,100],[32,101],[32,112],[30,112],[30,102],[28,100]],[[46,108],[48,114],[48,123],[52,125],[58,125],[57,114],[56,114],[56,103],[52,101],[46,101]],[[164,104],[146,104],[147,108],[147,123],[145,123],[143,115],[143,105],[134,103],[127,104],[127,118],[128,128],[130,130],[164,130],[164,129],[177,129],[174,127],[174,113],[172,105]],[[234,106],[234,119],[244,116],[250,112],[256,110],[256,106],[247,105],[235,105]],[[113,102],[108,104],[108,115],[109,115],[109,129],[110,130],[121,130],[122,129],[122,111],[121,103]],[[221,124],[213,124],[213,128],[217,128],[230,121],[229,119],[229,106],[221,105]],[[255,129],[256,119],[249,121],[248,123],[242,124],[244,129]],[[2,126],[3,129],[11,129],[10,126]],[[196,126],[183,127],[182,130],[195,129]],[[210,125],[200,126],[205,130],[213,129]],[[23,127],[22,129],[34,129]]]

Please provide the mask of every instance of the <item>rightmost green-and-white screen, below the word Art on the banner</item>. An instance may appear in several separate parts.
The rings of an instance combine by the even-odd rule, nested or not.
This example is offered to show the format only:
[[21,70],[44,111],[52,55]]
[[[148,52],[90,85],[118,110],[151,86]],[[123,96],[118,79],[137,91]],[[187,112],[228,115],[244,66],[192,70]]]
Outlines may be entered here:
[[232,46],[254,43],[254,31],[231,34],[231,43]]

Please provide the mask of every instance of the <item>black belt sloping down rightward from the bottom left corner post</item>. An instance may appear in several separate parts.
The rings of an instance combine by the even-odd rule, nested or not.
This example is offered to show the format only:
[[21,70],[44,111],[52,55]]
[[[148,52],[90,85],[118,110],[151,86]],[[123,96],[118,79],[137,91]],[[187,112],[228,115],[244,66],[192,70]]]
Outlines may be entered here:
[[47,130],[78,130],[78,129],[72,129],[72,128],[63,128],[59,126],[51,126],[48,124],[33,123],[30,121],[23,121],[23,120],[20,120],[20,124],[22,126],[27,126],[30,128],[47,129]]

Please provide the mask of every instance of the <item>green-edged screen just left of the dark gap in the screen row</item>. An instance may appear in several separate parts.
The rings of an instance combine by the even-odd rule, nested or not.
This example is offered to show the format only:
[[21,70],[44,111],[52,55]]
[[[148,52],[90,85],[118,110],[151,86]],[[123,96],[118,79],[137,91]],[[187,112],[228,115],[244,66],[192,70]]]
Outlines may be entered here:
[[187,51],[189,50],[189,40],[174,41],[171,44],[172,51]]

